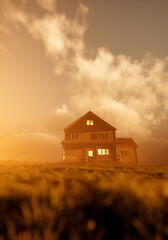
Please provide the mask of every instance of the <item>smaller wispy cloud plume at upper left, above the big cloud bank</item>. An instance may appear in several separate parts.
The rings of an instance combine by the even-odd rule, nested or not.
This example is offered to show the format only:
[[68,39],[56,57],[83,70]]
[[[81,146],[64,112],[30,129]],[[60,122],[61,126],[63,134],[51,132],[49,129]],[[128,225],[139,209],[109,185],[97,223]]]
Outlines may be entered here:
[[47,54],[52,56],[57,75],[62,74],[65,69],[69,73],[72,69],[75,71],[75,58],[84,50],[87,12],[87,7],[80,4],[74,19],[68,19],[65,14],[54,11],[41,18],[27,14],[24,16],[25,21],[23,18],[20,21],[35,39],[43,42]]

